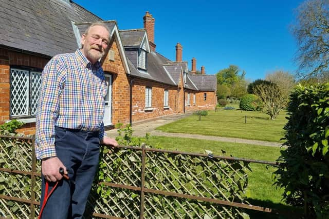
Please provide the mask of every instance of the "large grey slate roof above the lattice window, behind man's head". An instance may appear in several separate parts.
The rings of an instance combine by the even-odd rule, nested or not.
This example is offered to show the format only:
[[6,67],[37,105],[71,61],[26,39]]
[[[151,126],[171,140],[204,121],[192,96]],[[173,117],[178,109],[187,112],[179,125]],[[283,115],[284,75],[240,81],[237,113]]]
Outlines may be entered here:
[[76,3],[58,0],[0,0],[0,45],[54,56],[74,52],[77,41],[71,22],[101,18]]

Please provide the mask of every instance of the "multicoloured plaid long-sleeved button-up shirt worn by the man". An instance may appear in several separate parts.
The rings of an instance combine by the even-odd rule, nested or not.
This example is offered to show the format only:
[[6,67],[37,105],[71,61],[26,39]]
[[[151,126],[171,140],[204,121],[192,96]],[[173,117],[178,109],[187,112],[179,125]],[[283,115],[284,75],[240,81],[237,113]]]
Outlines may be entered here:
[[54,56],[42,72],[36,112],[36,158],[56,156],[55,126],[99,131],[104,136],[107,85],[99,62],[91,64],[80,50]]

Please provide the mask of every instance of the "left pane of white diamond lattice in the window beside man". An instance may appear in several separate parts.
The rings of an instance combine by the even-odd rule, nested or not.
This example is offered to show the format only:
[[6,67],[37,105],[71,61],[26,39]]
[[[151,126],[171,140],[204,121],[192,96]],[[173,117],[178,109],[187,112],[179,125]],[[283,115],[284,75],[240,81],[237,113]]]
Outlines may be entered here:
[[11,72],[11,115],[29,114],[29,71],[22,69],[10,70]]

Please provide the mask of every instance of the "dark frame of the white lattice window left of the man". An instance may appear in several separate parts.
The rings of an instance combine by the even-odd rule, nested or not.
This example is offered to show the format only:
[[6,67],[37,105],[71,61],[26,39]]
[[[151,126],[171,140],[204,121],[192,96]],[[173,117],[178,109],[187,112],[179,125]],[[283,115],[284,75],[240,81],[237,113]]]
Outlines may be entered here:
[[[13,98],[12,98],[12,96],[13,96],[13,76],[12,76],[12,74],[13,74],[13,70],[18,70],[18,71],[27,71],[28,72],[28,90],[27,91],[25,91],[26,93],[27,93],[27,114],[20,114],[20,115],[13,115],[13,107],[12,107],[12,105],[13,105]],[[35,87],[33,86],[32,87],[32,76],[33,76],[33,73],[34,74],[39,74],[39,88],[37,88],[37,89],[39,89],[37,92],[34,92],[33,93],[33,89],[35,89]],[[33,68],[33,67],[26,67],[26,66],[15,66],[15,65],[13,65],[13,66],[10,66],[10,69],[9,69],[9,77],[10,77],[10,84],[9,84],[9,118],[10,119],[20,119],[20,118],[22,118],[22,119],[24,119],[24,118],[35,118],[35,115],[36,115],[36,109],[38,108],[38,99],[39,99],[39,95],[40,95],[40,89],[41,89],[41,84],[42,84],[42,69],[40,69],[40,68]],[[38,86],[38,85],[37,85]],[[33,98],[33,95],[35,95],[34,96],[34,98]],[[34,99],[34,101],[33,101],[33,99]],[[35,111],[34,112],[32,112],[32,105],[33,105],[33,103],[35,103]]]

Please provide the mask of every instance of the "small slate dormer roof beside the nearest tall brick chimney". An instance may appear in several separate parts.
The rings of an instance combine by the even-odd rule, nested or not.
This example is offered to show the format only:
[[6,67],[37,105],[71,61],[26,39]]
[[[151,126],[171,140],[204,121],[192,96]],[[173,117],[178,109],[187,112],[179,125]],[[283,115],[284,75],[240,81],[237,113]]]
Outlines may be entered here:
[[145,35],[145,29],[120,30],[124,47],[140,47]]

